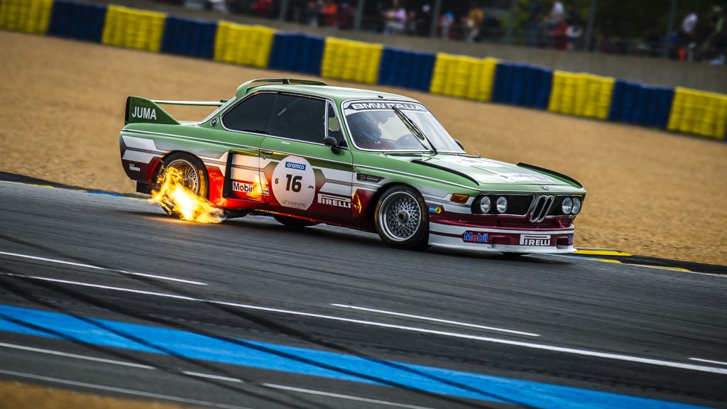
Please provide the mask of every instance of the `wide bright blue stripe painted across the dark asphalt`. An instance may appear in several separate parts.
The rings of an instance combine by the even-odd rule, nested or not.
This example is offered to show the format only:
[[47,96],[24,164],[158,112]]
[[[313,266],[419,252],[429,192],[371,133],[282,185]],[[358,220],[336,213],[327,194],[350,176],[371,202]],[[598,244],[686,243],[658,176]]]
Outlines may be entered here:
[[[46,328],[50,332],[21,325],[13,322],[14,320],[30,326]],[[515,378],[502,378],[403,362],[366,360],[315,349],[243,339],[232,343],[180,330],[106,319],[76,318],[67,314],[13,306],[0,306],[0,330],[48,338],[75,338],[89,344],[113,348],[178,354],[195,360],[378,384],[371,381],[370,378],[351,374],[356,373],[437,394],[491,402],[515,402],[519,405],[531,405],[537,408],[698,408],[675,402],[543,384]],[[340,368],[345,373],[321,367]]]

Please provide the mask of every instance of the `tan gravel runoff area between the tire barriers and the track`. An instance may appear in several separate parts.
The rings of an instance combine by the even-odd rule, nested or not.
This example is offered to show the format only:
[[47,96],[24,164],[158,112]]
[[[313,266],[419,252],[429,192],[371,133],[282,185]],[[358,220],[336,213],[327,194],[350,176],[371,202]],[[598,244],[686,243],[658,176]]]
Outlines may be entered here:
[[[119,162],[128,95],[230,98],[254,78],[313,78],[0,31],[0,170],[133,192]],[[470,153],[571,175],[577,247],[727,264],[727,143],[377,85],[425,103]],[[207,111],[171,110],[180,119]]]

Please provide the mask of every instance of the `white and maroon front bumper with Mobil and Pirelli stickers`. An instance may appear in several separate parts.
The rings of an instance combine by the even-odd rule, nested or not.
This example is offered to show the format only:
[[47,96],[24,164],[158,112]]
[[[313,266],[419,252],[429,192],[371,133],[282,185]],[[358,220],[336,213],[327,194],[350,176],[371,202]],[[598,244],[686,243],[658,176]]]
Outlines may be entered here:
[[497,253],[573,253],[574,226],[566,229],[502,229],[461,223],[429,223],[429,244]]

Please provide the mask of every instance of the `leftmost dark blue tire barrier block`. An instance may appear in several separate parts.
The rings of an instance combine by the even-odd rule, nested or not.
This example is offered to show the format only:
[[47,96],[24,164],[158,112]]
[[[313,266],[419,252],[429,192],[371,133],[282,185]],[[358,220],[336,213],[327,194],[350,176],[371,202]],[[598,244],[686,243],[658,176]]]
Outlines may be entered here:
[[55,0],[48,35],[100,43],[105,19],[105,5]]

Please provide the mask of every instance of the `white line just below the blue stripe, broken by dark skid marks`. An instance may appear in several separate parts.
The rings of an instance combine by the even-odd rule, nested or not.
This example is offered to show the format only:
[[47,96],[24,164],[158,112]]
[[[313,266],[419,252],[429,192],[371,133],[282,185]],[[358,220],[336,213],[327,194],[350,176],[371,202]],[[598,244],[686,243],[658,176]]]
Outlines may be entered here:
[[[135,368],[158,370],[158,368],[150,366],[150,365],[140,365],[140,364],[136,364],[134,362],[124,362],[124,361],[117,361],[117,360],[105,360],[103,358],[89,357],[88,355],[68,354],[67,352],[55,351],[52,349],[33,348],[31,346],[6,344],[4,342],[0,342],[0,346],[5,347],[5,348],[12,348],[12,349],[22,349],[24,351],[40,352],[41,354],[52,354],[52,355],[58,355],[61,357],[76,358],[79,360],[104,362],[104,363],[113,364],[113,365],[123,365],[123,366],[135,367]],[[230,378],[229,376],[212,375],[209,373],[193,372],[190,370],[182,370],[182,373],[184,373],[185,375],[189,375],[189,376],[198,376],[199,378],[215,379],[217,381],[234,382],[236,384],[249,384],[248,382],[245,382],[242,379]],[[353,395],[348,395],[348,394],[336,394],[333,392],[318,391],[316,389],[297,388],[295,386],[286,386],[286,385],[279,385],[279,384],[258,384],[258,385],[264,386],[265,388],[269,388],[269,389],[282,389],[282,390],[286,390],[286,391],[300,392],[303,394],[315,394],[315,395],[319,395],[319,396],[336,397],[336,398],[344,399],[344,400],[355,400],[357,402],[376,403],[378,405],[392,406],[394,408],[431,409],[431,408],[425,408],[424,406],[406,405],[404,403],[387,402],[385,400],[369,399],[367,397],[358,397],[358,396],[353,396]]]

